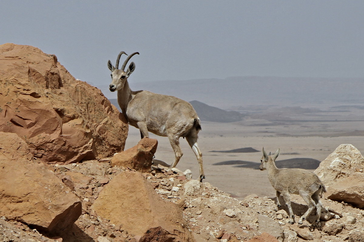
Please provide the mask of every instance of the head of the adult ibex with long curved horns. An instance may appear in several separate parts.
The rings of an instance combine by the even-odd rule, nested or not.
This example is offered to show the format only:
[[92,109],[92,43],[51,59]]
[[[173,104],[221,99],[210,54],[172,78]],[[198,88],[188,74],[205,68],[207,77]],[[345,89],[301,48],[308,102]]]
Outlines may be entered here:
[[116,66],[114,67],[111,64],[111,61],[109,60],[107,62],[107,66],[109,67],[109,69],[111,70],[111,78],[112,78],[112,82],[110,84],[110,91],[116,91],[116,90],[120,90],[124,87],[124,84],[127,80],[127,78],[129,77],[129,75],[135,70],[135,63],[131,62],[129,65],[129,68],[127,71],[124,71],[126,64],[128,63],[128,61],[130,60],[130,58],[132,56],[134,56],[135,54],[139,54],[139,52],[134,52],[132,53],[130,56],[128,56],[126,58],[126,60],[123,63],[123,66],[121,67],[121,69],[119,68],[119,61],[120,61],[120,57],[122,54],[126,54],[125,52],[120,52],[118,55],[118,59],[116,60]]

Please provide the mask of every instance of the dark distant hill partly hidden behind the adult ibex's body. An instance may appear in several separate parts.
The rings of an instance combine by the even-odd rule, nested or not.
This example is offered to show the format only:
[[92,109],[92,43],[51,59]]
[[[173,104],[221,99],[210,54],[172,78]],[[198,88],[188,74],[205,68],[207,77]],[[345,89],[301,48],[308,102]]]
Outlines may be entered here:
[[[121,112],[118,99],[109,99],[111,104],[114,104],[115,107]],[[220,122],[220,123],[228,123],[228,122],[236,122],[242,120],[242,114],[236,111],[225,111],[217,107],[209,106],[205,103],[199,101],[191,101],[190,102],[193,108],[196,110],[198,117],[202,121],[210,121],[210,122]]]

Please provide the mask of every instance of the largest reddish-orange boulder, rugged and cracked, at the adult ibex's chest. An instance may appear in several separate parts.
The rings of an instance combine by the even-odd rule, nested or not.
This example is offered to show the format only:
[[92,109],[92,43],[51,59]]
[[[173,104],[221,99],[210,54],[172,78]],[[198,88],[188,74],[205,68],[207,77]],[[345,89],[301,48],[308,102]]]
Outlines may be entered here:
[[68,164],[124,149],[128,125],[96,87],[28,45],[0,45],[0,131],[19,135],[33,155]]

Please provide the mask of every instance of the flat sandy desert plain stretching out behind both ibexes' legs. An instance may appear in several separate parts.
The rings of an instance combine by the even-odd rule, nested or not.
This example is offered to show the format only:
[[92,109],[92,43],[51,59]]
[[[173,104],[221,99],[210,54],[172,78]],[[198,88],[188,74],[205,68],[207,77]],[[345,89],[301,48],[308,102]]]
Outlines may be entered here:
[[[311,171],[340,144],[352,144],[359,151],[364,151],[364,106],[342,105],[304,110],[301,107],[271,106],[255,107],[256,110],[252,107],[240,109],[246,116],[239,122],[202,120],[198,139],[206,176],[203,181],[237,199],[241,200],[249,194],[276,196],[267,171],[259,170],[262,147],[272,153],[281,149],[277,166],[280,161],[285,161],[281,167]],[[154,134],[150,134],[150,138],[158,140],[155,159],[171,164],[174,152],[168,138]],[[139,130],[129,126],[126,149],[136,145],[139,140]],[[183,138],[180,138],[180,144],[183,156],[177,168],[181,171],[190,169],[193,179],[198,179],[199,167],[193,151]],[[233,149],[240,150],[219,152]]]

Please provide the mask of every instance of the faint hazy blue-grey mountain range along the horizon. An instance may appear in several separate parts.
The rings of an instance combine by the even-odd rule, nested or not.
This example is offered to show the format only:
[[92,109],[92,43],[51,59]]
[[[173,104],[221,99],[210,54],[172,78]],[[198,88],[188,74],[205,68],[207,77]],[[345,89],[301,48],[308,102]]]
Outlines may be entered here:
[[[132,90],[148,90],[183,100],[196,100],[214,107],[302,104],[362,104],[364,78],[227,77],[184,81],[137,82],[129,78]],[[107,97],[116,94],[98,86]]]

